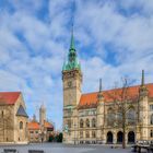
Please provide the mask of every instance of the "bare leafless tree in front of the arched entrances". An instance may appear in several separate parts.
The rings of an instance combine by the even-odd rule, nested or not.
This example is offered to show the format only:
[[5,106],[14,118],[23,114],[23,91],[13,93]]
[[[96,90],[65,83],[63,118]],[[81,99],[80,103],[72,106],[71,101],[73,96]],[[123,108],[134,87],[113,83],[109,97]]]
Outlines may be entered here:
[[130,90],[130,83],[125,78],[122,79],[122,86],[111,90],[107,93],[109,99],[113,102],[113,107],[107,109],[107,125],[114,128],[120,128],[118,134],[122,136],[122,148],[126,148],[126,133],[129,126],[137,126],[137,106],[139,94],[133,94]]

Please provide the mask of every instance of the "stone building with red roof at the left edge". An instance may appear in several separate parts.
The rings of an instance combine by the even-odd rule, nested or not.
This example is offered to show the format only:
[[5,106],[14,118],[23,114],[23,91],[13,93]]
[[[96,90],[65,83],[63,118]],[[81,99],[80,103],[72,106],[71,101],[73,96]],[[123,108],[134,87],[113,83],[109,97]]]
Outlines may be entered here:
[[27,115],[20,92],[0,93],[0,143],[27,143]]

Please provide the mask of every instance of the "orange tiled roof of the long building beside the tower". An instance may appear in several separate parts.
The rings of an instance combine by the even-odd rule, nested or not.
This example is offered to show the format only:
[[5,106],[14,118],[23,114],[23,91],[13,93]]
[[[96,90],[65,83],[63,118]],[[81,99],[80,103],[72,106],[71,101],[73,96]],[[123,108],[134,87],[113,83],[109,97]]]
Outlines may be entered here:
[[[149,90],[149,97],[153,97],[153,83],[146,84],[145,86]],[[130,86],[128,89],[127,95],[130,98],[137,97],[139,94],[139,87],[140,87],[140,85]],[[117,95],[119,95],[121,93],[121,91],[122,91],[122,89],[103,91],[104,102],[113,102],[113,97],[111,97],[113,94],[116,93]],[[80,103],[79,103],[79,108],[96,107],[97,95],[98,95],[98,92],[82,94]]]

